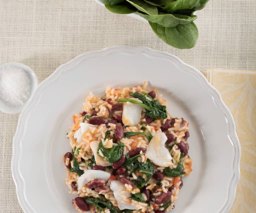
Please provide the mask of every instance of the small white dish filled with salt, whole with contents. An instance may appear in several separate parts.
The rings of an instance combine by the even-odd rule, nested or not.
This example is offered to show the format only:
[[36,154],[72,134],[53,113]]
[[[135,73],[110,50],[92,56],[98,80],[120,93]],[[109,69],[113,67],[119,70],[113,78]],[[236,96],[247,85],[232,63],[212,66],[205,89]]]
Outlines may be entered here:
[[28,66],[7,63],[0,66],[0,110],[19,113],[33,95],[38,80]]

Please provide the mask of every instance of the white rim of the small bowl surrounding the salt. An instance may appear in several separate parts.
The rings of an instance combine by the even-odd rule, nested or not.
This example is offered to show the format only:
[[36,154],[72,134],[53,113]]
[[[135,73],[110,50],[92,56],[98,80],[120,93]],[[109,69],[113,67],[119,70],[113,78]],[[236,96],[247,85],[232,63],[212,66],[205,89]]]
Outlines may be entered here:
[[24,65],[24,64],[11,62],[11,63],[3,64],[2,66],[0,66],[0,68],[5,67],[5,66],[20,67],[20,68],[24,69],[27,72],[27,74],[30,78],[31,93],[30,93],[29,98],[26,100],[26,102],[23,105],[18,106],[18,107],[10,106],[10,105],[7,105],[7,104],[5,104],[4,102],[2,102],[0,100],[0,110],[1,111],[6,112],[6,113],[10,113],[10,114],[20,113],[21,110],[23,109],[23,107],[26,105],[26,103],[30,100],[30,98],[34,94],[35,89],[38,85],[38,80],[37,80],[37,77],[36,77],[36,74],[34,73],[34,71],[32,69],[30,69],[28,66]]

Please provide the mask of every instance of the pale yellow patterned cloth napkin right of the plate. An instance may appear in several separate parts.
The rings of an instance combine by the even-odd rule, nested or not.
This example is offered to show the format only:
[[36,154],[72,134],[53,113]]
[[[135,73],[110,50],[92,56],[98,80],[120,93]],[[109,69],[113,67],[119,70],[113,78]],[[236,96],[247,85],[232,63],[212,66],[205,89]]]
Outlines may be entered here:
[[205,74],[219,90],[236,123],[241,145],[241,178],[231,213],[256,212],[256,71],[210,69]]

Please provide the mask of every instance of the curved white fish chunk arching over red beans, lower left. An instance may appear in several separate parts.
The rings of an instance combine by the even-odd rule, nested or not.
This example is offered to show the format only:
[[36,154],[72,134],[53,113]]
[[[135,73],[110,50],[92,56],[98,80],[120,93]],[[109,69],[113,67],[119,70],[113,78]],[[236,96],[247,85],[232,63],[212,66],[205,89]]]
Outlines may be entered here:
[[77,178],[78,190],[91,180],[101,179],[108,181],[110,173],[101,170],[87,170],[79,178]]

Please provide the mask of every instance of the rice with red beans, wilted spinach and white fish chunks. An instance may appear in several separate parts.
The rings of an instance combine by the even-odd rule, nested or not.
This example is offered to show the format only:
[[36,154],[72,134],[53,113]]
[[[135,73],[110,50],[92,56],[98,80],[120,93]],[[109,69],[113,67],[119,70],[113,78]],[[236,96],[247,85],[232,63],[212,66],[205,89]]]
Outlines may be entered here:
[[189,123],[172,117],[157,90],[107,88],[73,115],[63,155],[78,212],[164,213],[192,171]]

